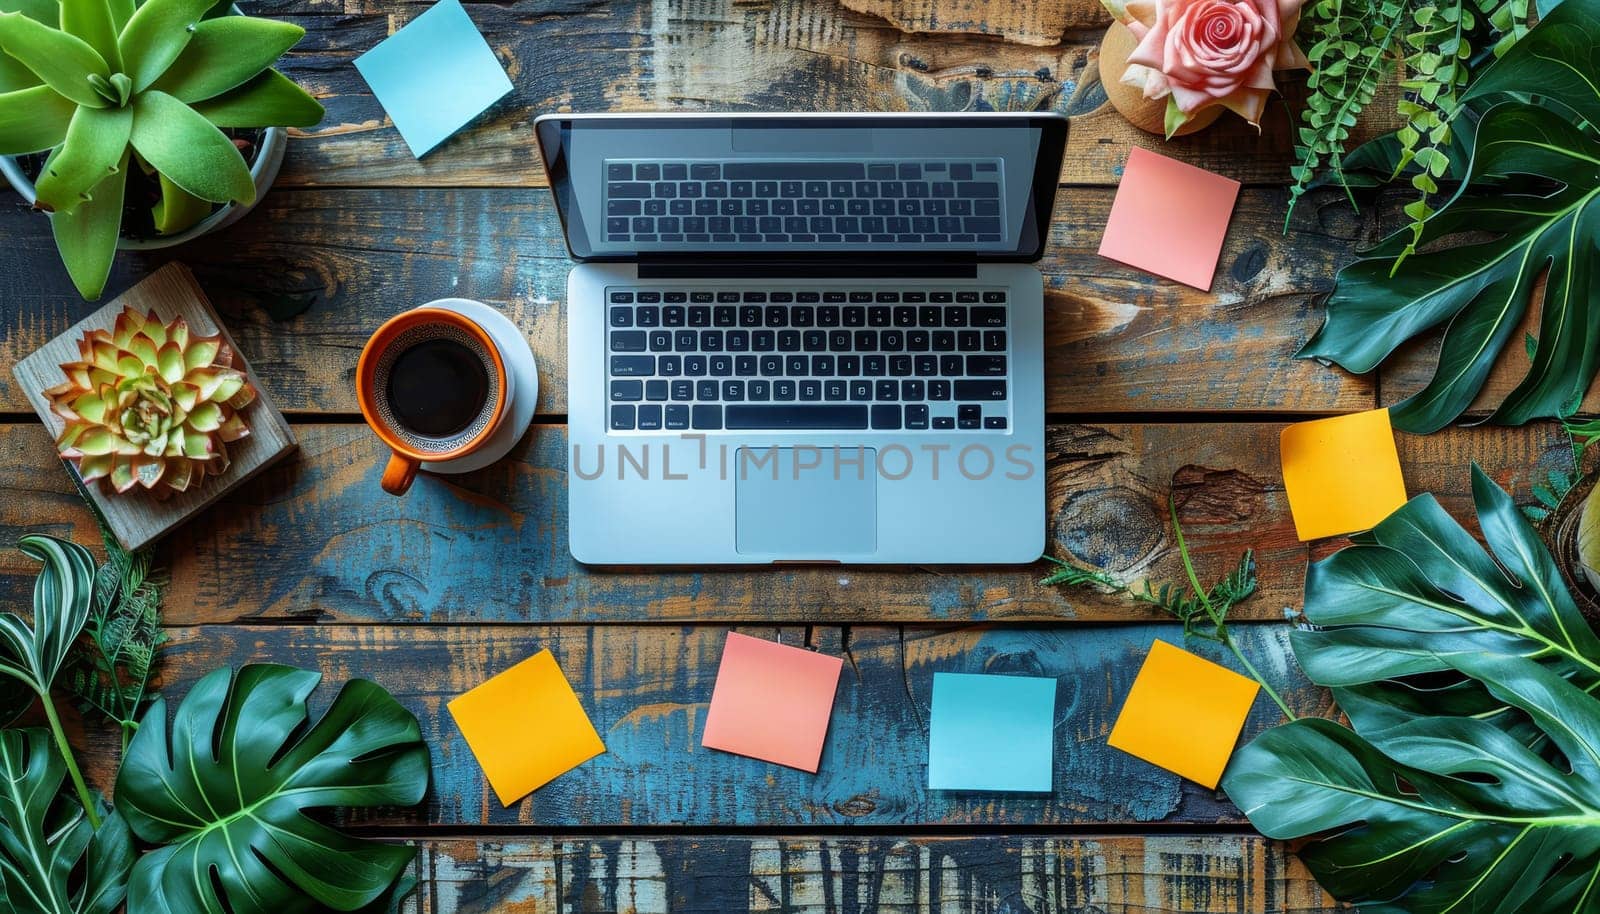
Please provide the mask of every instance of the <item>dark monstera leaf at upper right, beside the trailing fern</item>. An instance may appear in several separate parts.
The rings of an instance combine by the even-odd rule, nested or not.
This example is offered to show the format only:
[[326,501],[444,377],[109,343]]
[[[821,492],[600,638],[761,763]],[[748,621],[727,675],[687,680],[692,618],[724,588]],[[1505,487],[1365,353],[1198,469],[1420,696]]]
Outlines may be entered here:
[[[1576,410],[1600,368],[1600,0],[1566,0],[1472,83],[1490,107],[1466,179],[1405,256],[1403,229],[1339,272],[1322,330],[1299,355],[1376,368],[1413,336],[1448,323],[1429,384],[1398,403],[1398,427],[1427,434],[1477,397],[1515,339],[1541,275],[1539,335],[1523,381],[1491,421],[1520,424]],[[1482,239],[1469,232],[1485,232]],[[1600,288],[1600,287],[1595,287]]]

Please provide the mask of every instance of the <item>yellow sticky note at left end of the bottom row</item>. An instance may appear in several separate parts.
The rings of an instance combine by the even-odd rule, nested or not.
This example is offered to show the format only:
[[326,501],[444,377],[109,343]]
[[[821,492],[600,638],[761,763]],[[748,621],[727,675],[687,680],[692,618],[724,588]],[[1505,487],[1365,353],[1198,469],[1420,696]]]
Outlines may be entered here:
[[450,716],[504,807],[605,752],[549,650],[456,698]]

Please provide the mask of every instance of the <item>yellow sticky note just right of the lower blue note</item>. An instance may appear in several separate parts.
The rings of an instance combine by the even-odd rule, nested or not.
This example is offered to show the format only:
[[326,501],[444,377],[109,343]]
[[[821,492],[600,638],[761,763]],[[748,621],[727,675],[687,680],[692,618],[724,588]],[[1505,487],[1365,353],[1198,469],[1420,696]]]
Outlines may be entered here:
[[1128,690],[1109,743],[1214,789],[1258,688],[1232,669],[1158,640]]

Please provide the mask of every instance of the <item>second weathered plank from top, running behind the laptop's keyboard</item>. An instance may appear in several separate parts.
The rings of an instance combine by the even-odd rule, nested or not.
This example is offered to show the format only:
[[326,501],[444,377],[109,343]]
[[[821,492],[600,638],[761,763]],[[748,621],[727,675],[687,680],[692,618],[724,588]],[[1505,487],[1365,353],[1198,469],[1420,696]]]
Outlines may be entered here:
[[[1275,232],[1285,195],[1246,190],[1211,293],[1101,258],[1112,190],[1064,189],[1046,277],[1051,411],[1330,411],[1374,402],[1370,378],[1293,359],[1314,299],[1363,216],[1309,197]],[[14,197],[13,197],[14,200]],[[0,362],[27,355],[90,306],[59,266],[43,218],[0,205]],[[389,315],[442,296],[493,303],[539,359],[539,410],[566,410],[563,303],[571,261],[544,190],[277,190],[238,226],[178,251],[266,389],[288,411],[355,413],[355,362]],[[110,293],[171,259],[118,258]],[[272,314],[299,314],[278,322]],[[27,405],[0,378],[0,410]]]

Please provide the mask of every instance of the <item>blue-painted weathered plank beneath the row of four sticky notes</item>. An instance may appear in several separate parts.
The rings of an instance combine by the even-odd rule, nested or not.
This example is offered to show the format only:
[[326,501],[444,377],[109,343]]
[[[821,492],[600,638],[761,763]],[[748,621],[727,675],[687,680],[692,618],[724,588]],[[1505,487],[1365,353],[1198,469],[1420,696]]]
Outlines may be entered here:
[[[248,661],[320,669],[330,680],[366,677],[422,724],[432,791],[419,810],[360,813],[392,826],[1072,826],[1083,823],[1242,824],[1221,794],[1182,783],[1106,746],[1123,696],[1155,637],[1176,624],[1109,627],[741,627],[755,637],[810,643],[845,656],[821,772],[810,775],[701,748],[726,629],[714,626],[197,626],[171,629],[158,688],[181,698],[205,672]],[[1328,712],[1288,655],[1280,623],[1235,631],[1286,700]],[[608,752],[504,808],[456,730],[445,703],[488,675],[550,648]],[[1190,647],[1219,663],[1210,642]],[[1058,677],[1054,791],[995,794],[926,788],[933,674]],[[320,690],[331,701],[334,688]],[[1277,722],[1258,700],[1246,738]],[[530,732],[530,738],[538,738]],[[115,736],[91,738],[90,780],[110,784]],[[352,813],[355,816],[355,813]]]

